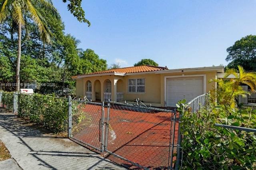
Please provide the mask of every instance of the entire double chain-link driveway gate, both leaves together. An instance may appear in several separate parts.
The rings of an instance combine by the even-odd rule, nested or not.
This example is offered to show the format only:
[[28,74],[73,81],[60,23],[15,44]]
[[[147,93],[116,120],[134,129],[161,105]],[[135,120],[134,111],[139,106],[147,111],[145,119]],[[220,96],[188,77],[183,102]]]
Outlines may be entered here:
[[128,168],[173,169],[178,125],[176,110],[69,98],[69,138]]

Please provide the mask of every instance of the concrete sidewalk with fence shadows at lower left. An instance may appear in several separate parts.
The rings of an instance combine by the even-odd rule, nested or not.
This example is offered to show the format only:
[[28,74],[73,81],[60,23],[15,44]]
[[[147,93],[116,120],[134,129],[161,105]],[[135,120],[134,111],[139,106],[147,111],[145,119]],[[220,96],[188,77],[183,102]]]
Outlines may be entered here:
[[24,170],[125,170],[66,138],[43,134],[0,109],[0,140]]

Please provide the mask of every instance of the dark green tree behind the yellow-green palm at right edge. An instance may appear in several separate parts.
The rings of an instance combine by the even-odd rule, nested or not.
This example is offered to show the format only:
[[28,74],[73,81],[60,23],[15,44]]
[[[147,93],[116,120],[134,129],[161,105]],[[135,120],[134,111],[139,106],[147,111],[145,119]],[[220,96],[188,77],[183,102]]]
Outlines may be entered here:
[[256,71],[256,35],[247,35],[228,47],[228,68],[242,66],[246,71]]

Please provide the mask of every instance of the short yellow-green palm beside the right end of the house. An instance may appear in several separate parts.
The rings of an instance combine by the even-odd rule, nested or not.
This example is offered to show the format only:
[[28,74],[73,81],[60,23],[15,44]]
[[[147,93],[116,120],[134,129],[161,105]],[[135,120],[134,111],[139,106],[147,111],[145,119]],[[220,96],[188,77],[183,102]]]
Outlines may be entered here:
[[[242,84],[246,84],[251,88],[251,92],[256,89],[256,72],[246,72],[242,66],[238,66],[239,72],[235,69],[230,69],[226,72],[224,80],[222,78],[216,78],[211,80],[218,84],[216,89],[218,103],[225,104],[234,107],[235,98],[241,95],[246,97],[250,92],[243,90]],[[234,75],[234,78],[228,78],[228,76]]]

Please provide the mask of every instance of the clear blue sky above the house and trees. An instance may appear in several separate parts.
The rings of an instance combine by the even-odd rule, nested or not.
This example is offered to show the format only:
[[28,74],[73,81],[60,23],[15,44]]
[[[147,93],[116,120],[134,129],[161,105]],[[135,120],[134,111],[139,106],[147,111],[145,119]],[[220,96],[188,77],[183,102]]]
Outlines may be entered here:
[[90,27],[54,5],[79,48],[122,67],[145,58],[168,68],[227,65],[226,49],[256,35],[256,0],[83,0]]

